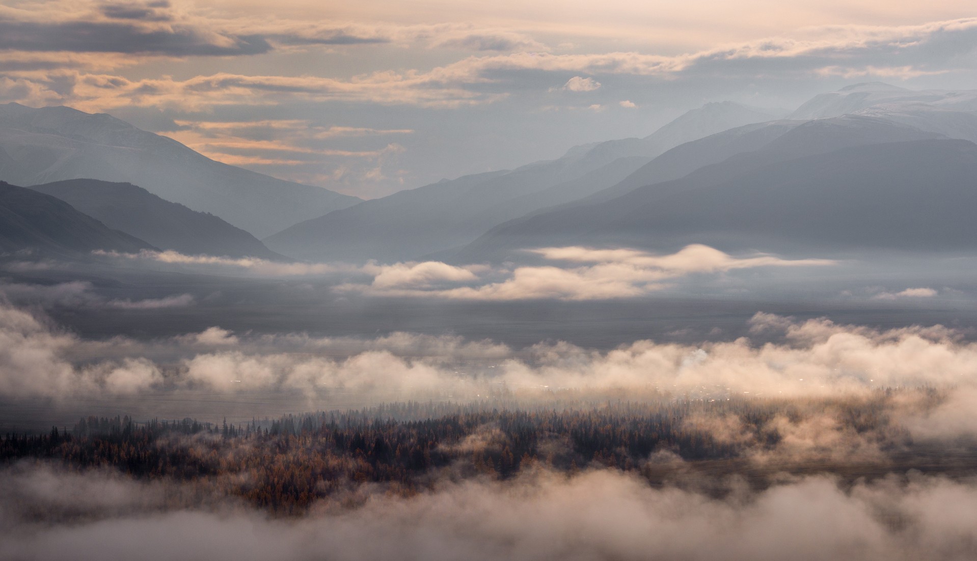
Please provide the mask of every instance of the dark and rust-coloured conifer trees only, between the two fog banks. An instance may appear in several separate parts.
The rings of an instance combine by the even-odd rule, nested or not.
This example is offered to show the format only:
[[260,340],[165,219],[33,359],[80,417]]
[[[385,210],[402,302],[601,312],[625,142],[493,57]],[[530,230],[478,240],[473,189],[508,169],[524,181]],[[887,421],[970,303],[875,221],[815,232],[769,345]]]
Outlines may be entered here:
[[[607,402],[589,408],[409,402],[360,411],[319,412],[241,424],[137,423],[89,417],[44,435],[8,434],[0,461],[60,461],[71,468],[111,467],[137,477],[189,481],[277,514],[314,501],[354,501],[361,484],[415,493],[438,475],[509,478],[531,465],[572,473],[586,467],[635,470],[650,479],[649,459],[665,451],[685,461],[735,461],[775,450],[775,418],[799,423],[829,416],[838,430],[879,449],[909,444],[887,414],[891,395],[820,400],[667,400]],[[748,438],[729,438],[714,421],[735,419]],[[710,421],[711,420],[711,421]]]

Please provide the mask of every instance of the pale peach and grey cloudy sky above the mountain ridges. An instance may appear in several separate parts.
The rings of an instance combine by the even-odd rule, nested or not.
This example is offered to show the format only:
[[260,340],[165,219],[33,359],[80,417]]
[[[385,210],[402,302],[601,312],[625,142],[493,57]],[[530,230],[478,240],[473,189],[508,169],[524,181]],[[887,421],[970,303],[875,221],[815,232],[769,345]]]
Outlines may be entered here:
[[960,0],[0,1],[0,102],[107,112],[363,198],[644,137],[708,101],[977,88]]

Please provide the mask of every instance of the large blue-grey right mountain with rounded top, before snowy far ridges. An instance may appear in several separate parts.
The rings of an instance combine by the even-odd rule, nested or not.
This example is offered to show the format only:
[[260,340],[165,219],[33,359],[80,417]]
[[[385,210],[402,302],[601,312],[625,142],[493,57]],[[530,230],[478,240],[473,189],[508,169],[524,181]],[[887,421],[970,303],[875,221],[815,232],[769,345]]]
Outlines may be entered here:
[[[965,140],[943,140],[940,135],[881,119],[850,115],[810,121],[760,150],[735,155],[679,180],[653,183],[613,198],[583,201],[500,224],[452,259],[513,260],[519,259],[521,250],[526,248],[578,244],[658,249],[698,242],[726,249],[765,251],[805,242],[826,247],[832,243],[883,244],[884,237],[873,238],[870,232],[855,226],[841,227],[842,219],[849,216],[847,211],[819,197],[838,197],[842,201],[845,198],[840,194],[846,189],[856,198],[871,193],[879,197],[879,205],[894,205],[891,212],[886,211],[888,215],[880,216],[903,213],[908,220],[915,209],[925,211],[926,207],[911,204],[909,197],[913,184],[925,189],[928,183],[919,181],[928,171],[933,172],[935,181],[944,181],[940,189],[947,189],[948,196],[955,192],[964,176],[941,175],[950,173],[952,168],[934,169],[941,165],[940,158],[931,156],[940,149],[956,154],[961,145],[966,148],[965,155],[973,155],[972,150],[968,151],[973,145]],[[864,161],[857,155],[864,156]],[[907,166],[914,167],[912,174],[906,173]],[[904,184],[910,178],[916,183]],[[887,184],[894,185],[893,194],[903,198],[889,198]],[[973,188],[974,180],[969,180],[968,185]],[[962,204],[960,200],[956,202]],[[864,205],[852,208],[872,212]],[[823,214],[830,232],[817,231]],[[778,221],[781,216],[790,219]],[[799,228],[805,220],[810,223],[803,233],[790,229],[794,221]],[[941,219],[927,215],[916,220]],[[880,224],[884,220],[876,221]],[[780,223],[784,231],[777,231],[772,223]],[[919,235],[923,245],[932,241],[925,231],[914,231],[913,235]],[[917,245],[906,236],[894,235],[886,247]]]

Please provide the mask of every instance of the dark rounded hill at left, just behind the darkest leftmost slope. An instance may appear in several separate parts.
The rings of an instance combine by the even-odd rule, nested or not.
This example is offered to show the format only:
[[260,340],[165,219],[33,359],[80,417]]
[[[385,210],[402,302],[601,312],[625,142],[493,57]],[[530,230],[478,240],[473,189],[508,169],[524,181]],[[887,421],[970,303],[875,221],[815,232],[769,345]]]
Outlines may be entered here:
[[191,211],[132,183],[64,180],[31,185],[106,226],[187,255],[285,259],[246,231],[214,215]]

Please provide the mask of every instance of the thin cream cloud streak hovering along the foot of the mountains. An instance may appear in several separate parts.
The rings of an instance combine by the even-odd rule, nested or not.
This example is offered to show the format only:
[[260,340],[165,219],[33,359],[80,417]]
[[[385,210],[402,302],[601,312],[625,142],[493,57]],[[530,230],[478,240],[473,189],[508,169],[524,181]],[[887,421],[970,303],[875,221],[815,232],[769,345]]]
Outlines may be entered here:
[[[319,276],[336,282],[338,293],[377,297],[436,298],[473,301],[557,299],[566,301],[636,298],[667,288],[683,277],[755,267],[823,266],[832,260],[784,260],[769,255],[736,258],[703,245],[671,255],[629,249],[581,247],[531,250],[563,266],[518,266],[512,270],[483,264],[452,265],[441,261],[363,265],[348,263],[281,263],[254,258],[186,256],[174,251],[140,254],[95,252],[110,259],[234,271],[260,276]],[[345,281],[345,282],[344,282]]]

